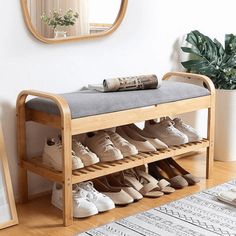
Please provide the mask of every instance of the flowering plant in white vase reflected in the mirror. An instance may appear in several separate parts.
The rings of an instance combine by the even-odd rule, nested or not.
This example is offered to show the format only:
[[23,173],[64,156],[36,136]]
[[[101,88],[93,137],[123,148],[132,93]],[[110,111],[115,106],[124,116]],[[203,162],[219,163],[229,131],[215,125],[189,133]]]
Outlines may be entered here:
[[67,10],[65,14],[61,10],[53,10],[50,11],[49,15],[43,13],[41,20],[53,28],[55,38],[61,38],[67,36],[65,28],[74,25],[78,17],[79,13],[74,12],[72,9]]

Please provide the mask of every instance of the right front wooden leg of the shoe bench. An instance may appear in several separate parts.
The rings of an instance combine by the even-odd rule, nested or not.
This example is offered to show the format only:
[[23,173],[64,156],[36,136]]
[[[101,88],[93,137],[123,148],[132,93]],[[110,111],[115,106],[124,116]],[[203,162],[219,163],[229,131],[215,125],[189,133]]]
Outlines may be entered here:
[[208,108],[208,131],[207,138],[209,140],[209,147],[207,148],[207,163],[206,163],[206,178],[212,178],[213,164],[214,164],[214,135],[215,135],[215,103],[212,102]]

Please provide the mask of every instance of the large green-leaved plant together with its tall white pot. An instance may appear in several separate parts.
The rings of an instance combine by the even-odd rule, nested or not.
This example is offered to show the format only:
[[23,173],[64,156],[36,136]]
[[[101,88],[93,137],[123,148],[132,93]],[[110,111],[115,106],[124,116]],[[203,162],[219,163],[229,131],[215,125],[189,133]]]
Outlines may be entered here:
[[236,35],[226,34],[224,46],[199,31],[192,31],[182,47],[190,60],[181,64],[188,72],[208,76],[216,87],[215,159],[236,160]]

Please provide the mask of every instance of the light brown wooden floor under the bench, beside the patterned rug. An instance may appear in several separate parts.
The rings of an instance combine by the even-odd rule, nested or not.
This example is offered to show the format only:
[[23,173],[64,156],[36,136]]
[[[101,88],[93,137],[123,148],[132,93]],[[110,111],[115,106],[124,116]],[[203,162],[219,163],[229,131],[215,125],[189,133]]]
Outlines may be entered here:
[[83,220],[75,220],[69,227],[62,226],[61,212],[50,204],[50,196],[31,200],[27,204],[18,205],[20,224],[0,231],[1,236],[37,235],[37,236],[72,236],[90,228],[133,215],[170,201],[191,195],[203,189],[224,183],[236,178],[236,162],[215,162],[214,176],[205,179],[204,153],[183,157],[178,162],[191,173],[199,176],[201,182],[195,186],[177,190],[175,193],[159,199],[143,199],[126,207],[116,208],[110,212],[99,214]]

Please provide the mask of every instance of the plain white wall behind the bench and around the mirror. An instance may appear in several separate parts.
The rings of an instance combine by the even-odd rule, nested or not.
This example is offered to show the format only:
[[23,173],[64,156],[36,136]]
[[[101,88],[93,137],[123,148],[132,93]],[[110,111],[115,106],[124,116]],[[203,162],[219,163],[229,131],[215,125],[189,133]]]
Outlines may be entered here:
[[[104,78],[145,73],[161,76],[179,69],[178,39],[194,29],[220,40],[225,33],[235,33],[235,6],[235,0],[130,0],[127,15],[113,35],[99,40],[46,45],[27,31],[20,1],[3,1],[0,119],[16,196],[19,189],[15,101],[21,90],[61,93]],[[202,124],[197,120],[196,125]],[[45,128],[31,136],[40,140],[45,130],[51,133]],[[33,142],[30,152],[39,153],[42,145],[42,141]],[[47,182],[38,177],[31,179],[30,185],[32,193],[48,187]]]

